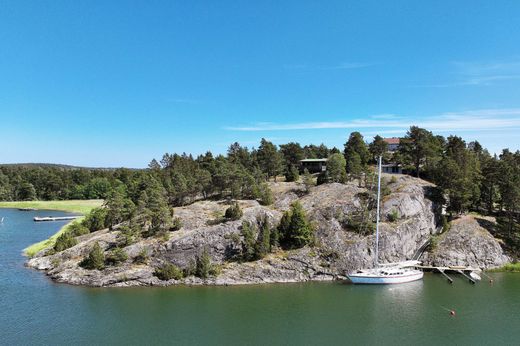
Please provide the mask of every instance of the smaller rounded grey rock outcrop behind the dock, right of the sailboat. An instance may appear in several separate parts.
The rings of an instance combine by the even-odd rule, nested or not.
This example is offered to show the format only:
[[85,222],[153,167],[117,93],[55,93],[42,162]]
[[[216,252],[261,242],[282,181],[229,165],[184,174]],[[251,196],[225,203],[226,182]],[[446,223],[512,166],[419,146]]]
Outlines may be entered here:
[[471,266],[481,269],[501,267],[511,259],[486,228],[494,227],[493,218],[464,216],[452,222],[439,236],[425,262],[435,266]]

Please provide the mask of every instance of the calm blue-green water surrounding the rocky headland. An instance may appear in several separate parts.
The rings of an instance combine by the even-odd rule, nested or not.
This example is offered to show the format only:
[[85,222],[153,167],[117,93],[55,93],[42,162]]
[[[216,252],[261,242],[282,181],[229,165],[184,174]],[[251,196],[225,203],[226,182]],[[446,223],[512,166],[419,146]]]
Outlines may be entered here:
[[45,213],[0,209],[1,344],[520,344],[520,275],[475,286],[426,274],[391,287],[73,287],[23,266],[21,250],[62,225],[35,214]]

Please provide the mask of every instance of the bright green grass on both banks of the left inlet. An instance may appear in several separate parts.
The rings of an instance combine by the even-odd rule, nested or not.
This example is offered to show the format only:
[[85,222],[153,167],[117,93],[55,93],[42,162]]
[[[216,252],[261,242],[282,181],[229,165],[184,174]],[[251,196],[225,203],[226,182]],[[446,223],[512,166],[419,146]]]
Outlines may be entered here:
[[[0,202],[0,208],[36,208],[45,210],[61,210],[71,213],[88,214],[92,209],[100,207],[103,204],[101,199],[91,200],[70,200],[70,201],[29,201],[29,202]],[[83,217],[77,218],[73,222],[81,222]],[[32,257],[43,249],[54,246],[56,239],[65,232],[72,224],[68,223],[63,226],[49,239],[42,240],[39,243],[33,244],[23,250],[25,255]]]

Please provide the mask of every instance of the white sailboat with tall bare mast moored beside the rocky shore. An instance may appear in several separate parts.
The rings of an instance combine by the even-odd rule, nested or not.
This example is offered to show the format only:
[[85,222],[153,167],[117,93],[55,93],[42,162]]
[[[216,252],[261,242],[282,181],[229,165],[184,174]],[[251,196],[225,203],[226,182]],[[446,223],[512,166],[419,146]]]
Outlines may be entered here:
[[415,267],[419,261],[404,261],[395,263],[379,263],[379,204],[381,199],[381,161],[378,162],[377,178],[377,216],[376,216],[376,244],[374,268],[360,269],[355,273],[347,274],[353,284],[400,284],[421,280],[423,272]]

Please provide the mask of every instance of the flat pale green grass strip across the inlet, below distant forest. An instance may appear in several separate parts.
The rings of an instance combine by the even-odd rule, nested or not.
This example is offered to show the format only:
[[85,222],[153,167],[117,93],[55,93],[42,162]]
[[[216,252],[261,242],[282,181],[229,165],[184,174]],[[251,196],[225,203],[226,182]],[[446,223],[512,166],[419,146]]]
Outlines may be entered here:
[[35,208],[43,210],[61,210],[70,213],[88,214],[92,209],[100,207],[102,204],[102,199],[69,201],[23,201],[0,202],[0,208]]

